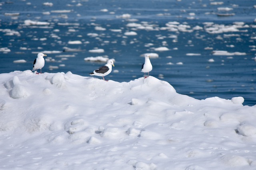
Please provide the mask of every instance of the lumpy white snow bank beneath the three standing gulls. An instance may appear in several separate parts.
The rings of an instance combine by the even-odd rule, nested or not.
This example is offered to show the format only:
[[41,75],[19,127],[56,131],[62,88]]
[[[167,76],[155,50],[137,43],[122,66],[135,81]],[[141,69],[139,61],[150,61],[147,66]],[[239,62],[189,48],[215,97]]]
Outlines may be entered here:
[[255,170],[256,106],[153,76],[0,74],[0,169]]

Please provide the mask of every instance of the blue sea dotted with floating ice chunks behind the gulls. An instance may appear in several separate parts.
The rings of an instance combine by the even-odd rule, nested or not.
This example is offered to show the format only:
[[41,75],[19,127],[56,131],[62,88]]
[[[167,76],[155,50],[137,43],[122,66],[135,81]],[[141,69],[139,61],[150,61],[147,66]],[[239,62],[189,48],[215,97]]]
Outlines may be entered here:
[[105,79],[118,82],[142,77],[152,53],[150,75],[180,94],[256,104],[252,0],[1,1],[0,73],[32,70],[39,52],[47,55],[42,72],[81,76],[106,63],[84,59],[115,59]]

